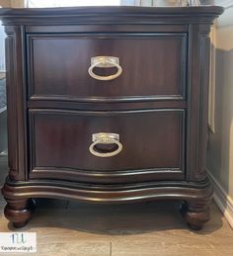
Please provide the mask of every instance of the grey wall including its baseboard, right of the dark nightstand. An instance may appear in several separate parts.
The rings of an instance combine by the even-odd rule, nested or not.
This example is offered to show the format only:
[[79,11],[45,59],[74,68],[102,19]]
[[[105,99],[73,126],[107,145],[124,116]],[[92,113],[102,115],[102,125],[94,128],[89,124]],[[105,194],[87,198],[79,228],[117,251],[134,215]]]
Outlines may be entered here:
[[[229,2],[229,1],[228,1]],[[232,4],[232,2],[231,2]],[[209,133],[207,169],[215,199],[233,226],[233,5],[216,26],[215,132]]]

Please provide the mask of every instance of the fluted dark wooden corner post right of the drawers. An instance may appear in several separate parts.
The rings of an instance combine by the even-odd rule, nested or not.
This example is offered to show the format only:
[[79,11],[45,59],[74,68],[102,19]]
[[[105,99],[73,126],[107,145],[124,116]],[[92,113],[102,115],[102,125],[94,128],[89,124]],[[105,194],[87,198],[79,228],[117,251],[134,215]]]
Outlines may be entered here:
[[187,170],[191,181],[204,180],[207,145],[209,26],[190,26]]

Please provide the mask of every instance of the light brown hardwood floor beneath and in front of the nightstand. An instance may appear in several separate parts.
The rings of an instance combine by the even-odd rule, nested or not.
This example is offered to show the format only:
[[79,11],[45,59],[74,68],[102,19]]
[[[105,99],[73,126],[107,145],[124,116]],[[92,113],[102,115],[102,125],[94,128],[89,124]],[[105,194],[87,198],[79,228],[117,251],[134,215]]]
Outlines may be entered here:
[[[0,231],[16,230],[3,216],[4,205],[1,198]],[[18,230],[38,233],[39,256],[233,255],[232,229],[214,204],[211,208],[211,220],[194,232],[176,202],[138,207],[39,200],[33,219]]]

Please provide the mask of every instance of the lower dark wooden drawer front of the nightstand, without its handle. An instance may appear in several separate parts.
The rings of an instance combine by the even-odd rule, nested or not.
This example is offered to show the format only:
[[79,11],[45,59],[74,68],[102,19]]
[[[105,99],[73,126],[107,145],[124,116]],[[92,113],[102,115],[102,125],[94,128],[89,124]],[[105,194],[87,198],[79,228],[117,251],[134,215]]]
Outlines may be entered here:
[[[184,122],[183,110],[32,110],[30,178],[95,183],[183,179]],[[99,132],[118,134],[122,150],[94,155],[92,135]],[[93,149],[106,156],[118,145],[99,142]]]

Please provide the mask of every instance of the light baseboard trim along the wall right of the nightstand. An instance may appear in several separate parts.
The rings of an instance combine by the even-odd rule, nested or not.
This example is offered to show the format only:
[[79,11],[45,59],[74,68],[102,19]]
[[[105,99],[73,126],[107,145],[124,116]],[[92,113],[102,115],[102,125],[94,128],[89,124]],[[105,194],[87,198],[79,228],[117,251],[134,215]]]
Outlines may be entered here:
[[213,185],[213,200],[233,228],[233,199],[222,188],[209,170],[207,170],[207,175]]

